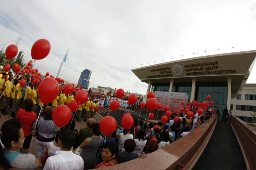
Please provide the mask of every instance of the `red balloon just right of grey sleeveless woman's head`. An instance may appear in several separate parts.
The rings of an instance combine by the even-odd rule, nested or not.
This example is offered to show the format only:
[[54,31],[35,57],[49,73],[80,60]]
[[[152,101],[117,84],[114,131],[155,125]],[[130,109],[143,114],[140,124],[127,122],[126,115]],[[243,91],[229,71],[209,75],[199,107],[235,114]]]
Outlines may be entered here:
[[100,131],[104,135],[112,134],[117,128],[116,119],[112,116],[105,116],[100,120]]

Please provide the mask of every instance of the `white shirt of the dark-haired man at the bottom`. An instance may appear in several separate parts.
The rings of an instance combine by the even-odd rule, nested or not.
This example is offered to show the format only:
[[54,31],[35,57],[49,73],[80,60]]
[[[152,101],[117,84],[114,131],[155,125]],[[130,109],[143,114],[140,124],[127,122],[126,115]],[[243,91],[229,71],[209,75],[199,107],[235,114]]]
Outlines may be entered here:
[[46,160],[44,170],[83,170],[84,160],[72,151],[56,151]]

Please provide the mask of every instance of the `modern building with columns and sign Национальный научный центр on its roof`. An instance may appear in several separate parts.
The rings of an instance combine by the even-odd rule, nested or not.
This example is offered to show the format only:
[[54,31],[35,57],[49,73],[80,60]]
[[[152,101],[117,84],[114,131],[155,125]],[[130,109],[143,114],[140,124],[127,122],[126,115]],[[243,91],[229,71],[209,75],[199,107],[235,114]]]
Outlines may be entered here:
[[186,92],[188,100],[231,107],[231,98],[244,88],[255,62],[256,50],[208,55],[132,69],[149,91]]

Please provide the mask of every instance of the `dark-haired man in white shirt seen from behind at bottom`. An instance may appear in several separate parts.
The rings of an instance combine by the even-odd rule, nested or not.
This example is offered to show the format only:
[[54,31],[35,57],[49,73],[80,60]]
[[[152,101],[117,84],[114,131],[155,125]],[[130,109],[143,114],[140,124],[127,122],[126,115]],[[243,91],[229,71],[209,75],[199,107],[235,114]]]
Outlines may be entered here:
[[46,160],[44,170],[83,170],[84,160],[71,150],[76,141],[76,135],[71,130],[61,130],[58,144],[60,151]]

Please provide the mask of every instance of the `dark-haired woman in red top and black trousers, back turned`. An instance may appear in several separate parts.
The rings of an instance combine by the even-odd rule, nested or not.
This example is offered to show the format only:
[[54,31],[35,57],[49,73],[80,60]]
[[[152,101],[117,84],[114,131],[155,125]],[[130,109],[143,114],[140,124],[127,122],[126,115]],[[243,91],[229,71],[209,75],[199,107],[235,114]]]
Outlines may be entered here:
[[25,109],[20,108],[16,119],[21,122],[21,128],[24,132],[24,144],[23,147],[20,149],[21,153],[28,153],[28,148],[30,146],[31,138],[32,138],[32,128],[33,124],[36,121],[36,113],[32,112],[33,108],[33,101],[31,99],[24,100],[24,107]]

